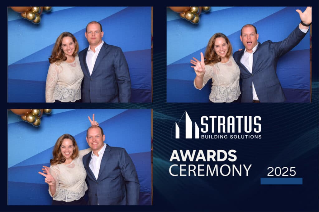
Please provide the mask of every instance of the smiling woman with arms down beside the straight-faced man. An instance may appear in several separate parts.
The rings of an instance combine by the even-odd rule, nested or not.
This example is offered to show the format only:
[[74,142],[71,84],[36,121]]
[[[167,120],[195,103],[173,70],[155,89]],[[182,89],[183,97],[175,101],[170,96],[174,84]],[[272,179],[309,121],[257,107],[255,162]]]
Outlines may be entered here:
[[45,87],[46,102],[79,102],[83,72],[78,58],[79,45],[70,32],[57,39],[49,58]]

